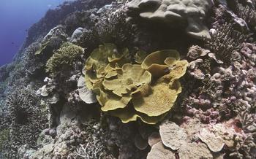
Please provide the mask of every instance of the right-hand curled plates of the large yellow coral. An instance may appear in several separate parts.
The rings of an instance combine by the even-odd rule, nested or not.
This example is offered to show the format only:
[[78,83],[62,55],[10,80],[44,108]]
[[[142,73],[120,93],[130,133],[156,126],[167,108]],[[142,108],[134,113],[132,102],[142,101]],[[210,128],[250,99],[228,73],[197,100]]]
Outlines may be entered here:
[[188,64],[187,61],[178,60],[176,50],[157,51],[145,58],[141,67],[150,71],[154,77],[160,77],[151,85],[151,91],[146,96],[132,98],[138,112],[152,117],[172,108],[178,93],[181,93],[181,84],[176,80],[185,74]]

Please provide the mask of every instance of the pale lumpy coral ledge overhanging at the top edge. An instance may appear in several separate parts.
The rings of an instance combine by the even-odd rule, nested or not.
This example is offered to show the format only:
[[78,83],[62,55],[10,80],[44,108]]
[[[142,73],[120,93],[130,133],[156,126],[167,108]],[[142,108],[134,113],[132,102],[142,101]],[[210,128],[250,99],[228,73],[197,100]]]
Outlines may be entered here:
[[210,38],[208,28],[203,25],[203,18],[213,4],[212,0],[132,0],[127,6],[148,20],[173,24],[187,21],[187,34],[200,39],[202,36]]

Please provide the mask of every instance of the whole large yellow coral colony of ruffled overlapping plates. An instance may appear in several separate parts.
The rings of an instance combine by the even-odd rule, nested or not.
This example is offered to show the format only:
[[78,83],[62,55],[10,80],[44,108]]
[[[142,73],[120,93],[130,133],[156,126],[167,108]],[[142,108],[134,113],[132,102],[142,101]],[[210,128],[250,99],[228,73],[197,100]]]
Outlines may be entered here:
[[178,93],[187,61],[176,50],[160,50],[149,55],[140,51],[135,62],[129,51],[117,51],[114,44],[99,45],[86,61],[86,86],[97,94],[102,111],[123,123],[138,118],[155,124],[170,111]]

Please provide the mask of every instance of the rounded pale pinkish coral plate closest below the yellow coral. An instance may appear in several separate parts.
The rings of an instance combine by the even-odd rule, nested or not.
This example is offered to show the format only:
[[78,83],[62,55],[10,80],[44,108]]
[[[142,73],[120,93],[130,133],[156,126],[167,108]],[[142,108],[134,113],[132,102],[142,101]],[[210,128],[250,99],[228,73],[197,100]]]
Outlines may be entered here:
[[178,150],[182,144],[186,143],[187,133],[183,128],[180,128],[176,123],[165,120],[160,126],[160,136],[162,143],[172,150]]

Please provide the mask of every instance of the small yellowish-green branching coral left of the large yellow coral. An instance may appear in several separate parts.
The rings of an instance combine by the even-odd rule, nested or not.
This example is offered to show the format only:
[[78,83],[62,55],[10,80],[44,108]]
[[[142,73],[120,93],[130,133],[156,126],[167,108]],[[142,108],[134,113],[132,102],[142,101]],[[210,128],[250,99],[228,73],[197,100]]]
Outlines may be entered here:
[[63,66],[72,66],[73,62],[83,55],[83,48],[78,45],[66,42],[46,63],[46,71],[55,76]]

